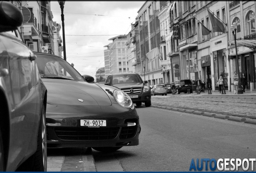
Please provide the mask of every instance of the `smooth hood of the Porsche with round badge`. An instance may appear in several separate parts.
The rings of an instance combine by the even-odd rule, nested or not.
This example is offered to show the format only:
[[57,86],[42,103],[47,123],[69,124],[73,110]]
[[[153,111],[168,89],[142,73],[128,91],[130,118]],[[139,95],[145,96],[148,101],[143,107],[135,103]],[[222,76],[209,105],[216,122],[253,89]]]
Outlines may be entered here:
[[112,105],[107,94],[96,84],[74,80],[42,78],[50,105]]

